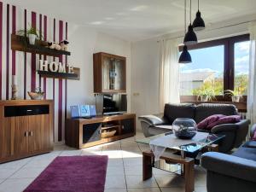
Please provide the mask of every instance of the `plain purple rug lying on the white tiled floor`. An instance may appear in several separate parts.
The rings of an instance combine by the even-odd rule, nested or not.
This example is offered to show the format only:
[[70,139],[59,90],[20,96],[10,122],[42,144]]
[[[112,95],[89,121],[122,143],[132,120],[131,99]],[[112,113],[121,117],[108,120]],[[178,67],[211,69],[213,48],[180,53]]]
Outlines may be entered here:
[[108,156],[56,157],[24,192],[103,192]]

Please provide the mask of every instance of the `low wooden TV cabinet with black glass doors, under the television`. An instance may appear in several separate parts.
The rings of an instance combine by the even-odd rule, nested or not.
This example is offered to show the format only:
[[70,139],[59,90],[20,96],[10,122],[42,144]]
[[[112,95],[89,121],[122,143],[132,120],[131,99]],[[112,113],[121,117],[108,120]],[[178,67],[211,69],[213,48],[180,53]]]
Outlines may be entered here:
[[[96,116],[90,119],[67,119],[65,141],[73,148],[89,148],[136,134],[136,114]],[[113,137],[102,138],[103,130],[115,130]]]

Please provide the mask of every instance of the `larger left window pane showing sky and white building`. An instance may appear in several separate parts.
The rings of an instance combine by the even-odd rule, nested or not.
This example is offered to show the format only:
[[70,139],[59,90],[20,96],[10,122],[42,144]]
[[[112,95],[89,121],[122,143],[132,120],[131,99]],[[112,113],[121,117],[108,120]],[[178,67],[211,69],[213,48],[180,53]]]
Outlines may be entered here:
[[[193,62],[180,68],[180,95],[198,96],[201,90],[224,90],[224,45],[189,51]],[[216,56],[218,55],[218,56]]]

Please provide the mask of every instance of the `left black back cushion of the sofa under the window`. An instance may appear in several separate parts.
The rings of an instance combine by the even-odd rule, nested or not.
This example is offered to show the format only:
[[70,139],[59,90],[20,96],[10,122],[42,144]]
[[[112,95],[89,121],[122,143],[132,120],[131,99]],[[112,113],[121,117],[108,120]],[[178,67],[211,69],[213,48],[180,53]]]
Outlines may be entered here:
[[167,103],[165,105],[164,116],[169,122],[172,122],[177,118],[190,118],[195,119],[195,104],[192,103],[180,103],[172,104]]

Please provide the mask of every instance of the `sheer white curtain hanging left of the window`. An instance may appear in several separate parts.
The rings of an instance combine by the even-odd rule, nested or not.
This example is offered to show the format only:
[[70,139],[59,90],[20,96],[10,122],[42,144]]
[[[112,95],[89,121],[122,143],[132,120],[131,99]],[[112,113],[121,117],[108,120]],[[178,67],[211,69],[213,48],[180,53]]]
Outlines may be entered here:
[[160,42],[160,112],[168,102],[179,103],[179,63],[177,39]]

